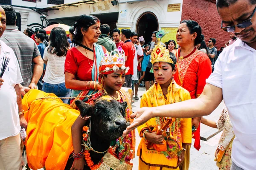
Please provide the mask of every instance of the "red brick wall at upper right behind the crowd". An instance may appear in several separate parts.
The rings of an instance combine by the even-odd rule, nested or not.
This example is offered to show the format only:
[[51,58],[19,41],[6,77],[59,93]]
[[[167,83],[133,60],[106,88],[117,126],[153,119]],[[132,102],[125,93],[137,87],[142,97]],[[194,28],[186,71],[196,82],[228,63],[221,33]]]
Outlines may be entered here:
[[195,20],[202,28],[204,40],[215,38],[215,46],[221,46],[230,40],[230,33],[221,30],[221,18],[215,5],[215,0],[183,0],[181,20]]

